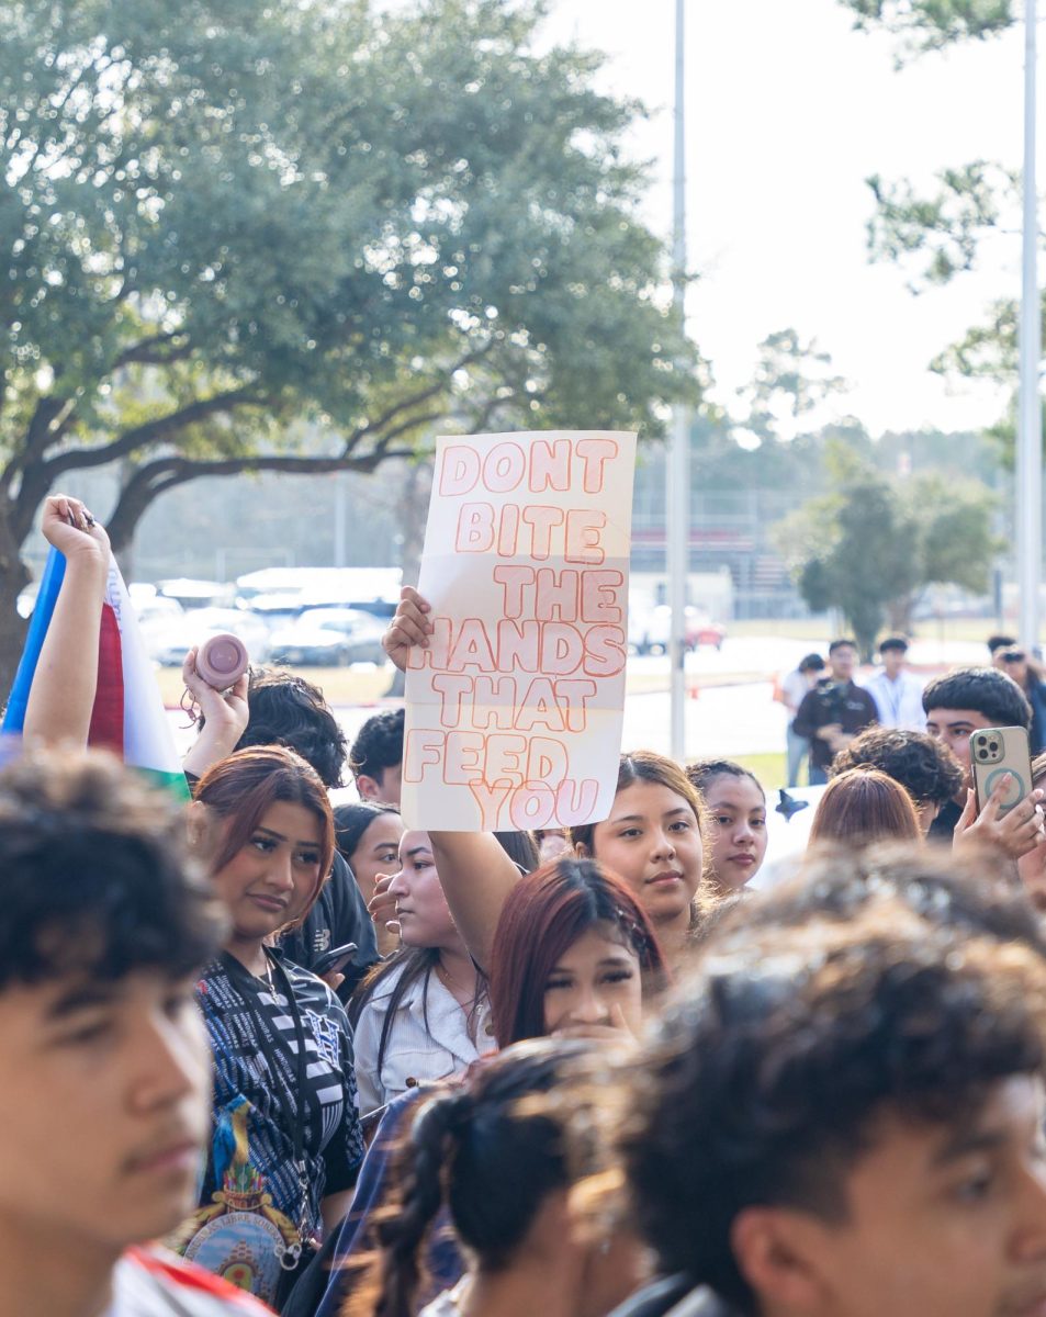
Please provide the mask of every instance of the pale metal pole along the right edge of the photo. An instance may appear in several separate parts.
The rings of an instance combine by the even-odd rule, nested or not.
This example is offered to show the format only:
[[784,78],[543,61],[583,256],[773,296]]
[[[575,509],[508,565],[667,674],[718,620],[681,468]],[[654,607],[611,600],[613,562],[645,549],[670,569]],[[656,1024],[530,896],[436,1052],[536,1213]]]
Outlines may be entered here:
[[1024,54],[1024,279],[1021,290],[1021,394],[1017,427],[1017,587],[1021,644],[1038,644],[1042,568],[1042,320],[1038,291],[1035,194],[1035,0],[1025,0]]

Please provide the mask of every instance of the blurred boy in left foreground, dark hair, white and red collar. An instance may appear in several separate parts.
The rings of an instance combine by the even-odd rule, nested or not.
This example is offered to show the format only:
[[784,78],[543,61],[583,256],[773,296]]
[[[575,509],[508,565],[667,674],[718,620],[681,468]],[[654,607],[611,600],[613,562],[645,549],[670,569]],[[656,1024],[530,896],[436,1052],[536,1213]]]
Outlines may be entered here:
[[195,1204],[221,915],[184,822],[104,755],[0,773],[0,1313],[265,1312],[158,1249]]

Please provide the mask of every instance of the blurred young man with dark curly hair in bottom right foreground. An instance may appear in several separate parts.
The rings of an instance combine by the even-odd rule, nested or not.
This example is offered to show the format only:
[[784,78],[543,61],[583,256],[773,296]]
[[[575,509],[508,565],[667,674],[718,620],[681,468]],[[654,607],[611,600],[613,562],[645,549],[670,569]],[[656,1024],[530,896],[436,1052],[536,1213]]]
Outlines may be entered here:
[[619,1085],[664,1279],[618,1317],[1046,1312],[1042,943],[934,863],[822,865],[710,935]]

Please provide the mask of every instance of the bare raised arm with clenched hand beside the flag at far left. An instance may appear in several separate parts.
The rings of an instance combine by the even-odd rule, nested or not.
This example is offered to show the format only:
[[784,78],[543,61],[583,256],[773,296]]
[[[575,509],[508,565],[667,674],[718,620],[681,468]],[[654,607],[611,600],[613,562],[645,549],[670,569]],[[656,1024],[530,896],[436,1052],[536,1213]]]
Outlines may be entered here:
[[45,500],[41,529],[65,557],[66,570],[40,651],[22,736],[26,744],[86,745],[97,686],[109,537],[83,503],[66,494]]

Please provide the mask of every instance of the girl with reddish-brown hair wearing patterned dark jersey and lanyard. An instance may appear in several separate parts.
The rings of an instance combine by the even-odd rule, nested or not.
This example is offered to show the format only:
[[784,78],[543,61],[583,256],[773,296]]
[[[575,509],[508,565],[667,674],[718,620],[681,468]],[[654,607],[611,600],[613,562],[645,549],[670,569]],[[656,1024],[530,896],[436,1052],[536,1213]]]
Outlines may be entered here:
[[200,778],[190,831],[229,928],[196,989],[215,1058],[200,1206],[171,1242],[278,1308],[362,1156],[344,1008],[273,946],[327,878],[331,806],[292,751],[244,749]]

